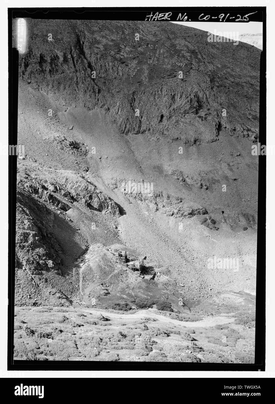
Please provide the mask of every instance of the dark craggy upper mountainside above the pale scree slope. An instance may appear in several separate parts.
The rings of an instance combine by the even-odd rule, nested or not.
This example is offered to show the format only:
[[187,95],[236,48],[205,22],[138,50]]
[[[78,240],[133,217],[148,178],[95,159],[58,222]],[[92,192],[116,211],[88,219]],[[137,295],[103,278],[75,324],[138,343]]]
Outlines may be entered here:
[[54,99],[102,108],[123,134],[194,144],[226,126],[257,136],[260,53],[250,46],[209,44],[170,23],[30,20],[28,33],[21,77]]

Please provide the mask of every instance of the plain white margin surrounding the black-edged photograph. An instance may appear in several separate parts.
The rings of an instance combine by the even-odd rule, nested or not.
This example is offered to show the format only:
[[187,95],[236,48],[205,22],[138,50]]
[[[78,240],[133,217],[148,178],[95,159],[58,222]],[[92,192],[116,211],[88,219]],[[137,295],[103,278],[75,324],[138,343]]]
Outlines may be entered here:
[[[149,4],[149,5],[148,5]],[[267,6],[267,145],[275,145],[275,135],[274,135],[274,122],[273,118],[274,112],[272,111],[274,103],[274,4],[269,0],[211,0],[209,2],[202,2],[198,0],[193,0],[192,4],[187,0],[174,1],[169,0],[90,0],[83,1],[69,1],[69,0],[2,0],[1,4],[1,41],[2,41],[2,51],[1,51],[1,65],[0,65],[0,88],[1,88],[1,132],[0,132],[0,143],[8,144],[8,15],[7,9],[10,7],[146,7],[160,9],[163,8],[165,11],[169,11],[169,7],[179,7],[183,10],[185,7],[190,6],[219,6],[219,7],[233,7],[233,6]],[[162,10],[160,10],[162,11]],[[245,63],[245,61],[244,61]],[[1,251],[1,278],[0,278],[0,377],[45,377],[45,378],[59,378],[59,377],[134,377],[134,378],[144,378],[144,377],[161,377],[161,378],[221,378],[221,377],[234,377],[234,378],[266,378],[275,376],[275,354],[274,354],[274,331],[275,331],[275,297],[274,297],[274,287],[275,287],[275,267],[274,267],[274,240],[275,240],[275,215],[274,215],[274,201],[275,201],[275,191],[274,191],[274,177],[275,177],[275,156],[267,156],[267,223],[269,227],[267,229],[267,304],[266,304],[266,314],[267,314],[267,337],[266,337],[266,371],[265,372],[229,372],[229,371],[219,371],[219,372],[169,372],[169,371],[159,371],[159,372],[146,372],[146,371],[9,371],[7,372],[7,311],[8,311],[8,157],[0,156],[0,173],[1,173],[1,197],[0,197],[0,251]],[[262,257],[264,263],[265,257]],[[260,271],[260,268],[258,268]],[[254,384],[256,385],[256,379]]]

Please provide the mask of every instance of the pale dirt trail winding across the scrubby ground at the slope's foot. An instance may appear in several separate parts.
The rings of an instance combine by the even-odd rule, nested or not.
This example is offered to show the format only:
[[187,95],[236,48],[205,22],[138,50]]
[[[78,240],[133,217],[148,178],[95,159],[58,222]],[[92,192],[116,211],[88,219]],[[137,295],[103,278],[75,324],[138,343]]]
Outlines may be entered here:
[[161,316],[160,314],[154,313],[152,309],[146,310],[139,310],[134,314],[117,314],[117,313],[110,313],[109,311],[104,310],[97,310],[97,309],[84,309],[84,311],[88,311],[90,314],[102,314],[108,316],[111,320],[112,319],[124,319],[124,320],[141,320],[143,317],[150,317],[155,318],[161,322],[165,323],[172,323],[175,325],[181,325],[183,327],[211,327],[217,324],[228,324],[233,323],[235,318],[229,317],[234,313],[227,314],[226,316],[214,316],[214,317],[207,317],[200,321],[180,321],[175,320],[173,318]]

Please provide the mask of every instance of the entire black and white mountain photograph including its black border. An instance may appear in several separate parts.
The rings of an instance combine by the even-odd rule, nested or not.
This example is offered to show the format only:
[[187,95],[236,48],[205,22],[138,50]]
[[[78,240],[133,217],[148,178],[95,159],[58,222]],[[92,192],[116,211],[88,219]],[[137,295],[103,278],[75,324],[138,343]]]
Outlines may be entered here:
[[188,6],[10,11],[14,363],[263,370],[266,11]]

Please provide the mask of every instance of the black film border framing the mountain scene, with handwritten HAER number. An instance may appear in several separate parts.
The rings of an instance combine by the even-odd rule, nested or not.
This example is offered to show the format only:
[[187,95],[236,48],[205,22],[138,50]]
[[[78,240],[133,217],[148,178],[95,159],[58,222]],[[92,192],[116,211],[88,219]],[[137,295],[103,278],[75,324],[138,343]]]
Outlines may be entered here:
[[[167,11],[163,11],[163,10]],[[36,11],[35,11],[36,10]],[[223,11],[224,10],[224,11]],[[259,143],[266,145],[266,7],[102,7],[102,8],[8,8],[8,140],[17,144],[18,68],[19,54],[12,48],[12,19],[83,19],[145,21],[145,13],[183,11],[236,11],[241,14],[262,12],[263,49],[260,57]],[[92,13],[92,14],[90,14]],[[95,18],[94,13],[98,18]],[[125,13],[127,18],[125,18]],[[118,15],[119,14],[119,15]],[[99,16],[101,18],[99,18]],[[141,16],[143,19],[140,19]],[[104,17],[104,18],[102,18]],[[172,19],[171,19],[172,21]],[[254,20],[255,21],[255,20]],[[167,23],[169,21],[158,21]],[[219,21],[215,21],[219,22]],[[148,21],[150,23],[150,21]],[[241,23],[241,22],[240,22]],[[265,249],[266,249],[266,156],[258,156],[258,230],[256,271],[256,328],[254,364],[209,364],[183,362],[106,362],[106,361],[28,361],[13,360],[13,330],[15,311],[15,229],[17,156],[8,156],[8,370],[205,370],[205,371],[264,371],[265,370]]]

